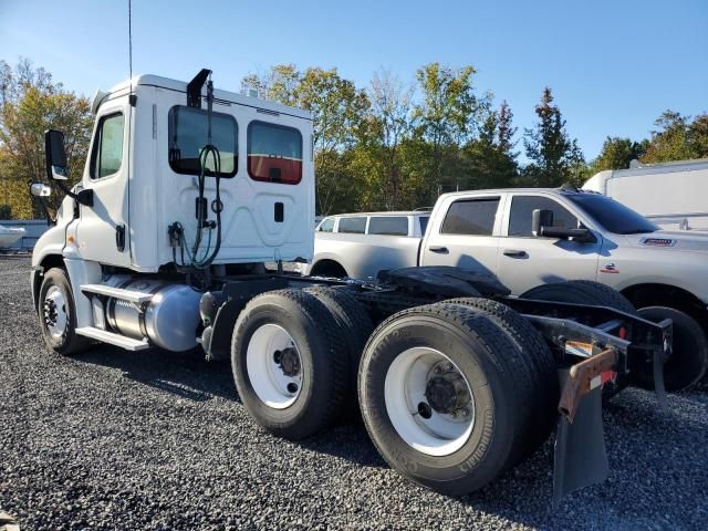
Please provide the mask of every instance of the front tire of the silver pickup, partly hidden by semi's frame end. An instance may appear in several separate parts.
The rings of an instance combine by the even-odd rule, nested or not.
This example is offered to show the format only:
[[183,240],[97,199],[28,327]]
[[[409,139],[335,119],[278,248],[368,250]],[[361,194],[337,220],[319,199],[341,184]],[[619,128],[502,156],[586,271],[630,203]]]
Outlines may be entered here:
[[[642,308],[639,315],[653,322],[664,319],[674,322],[674,352],[664,365],[666,391],[685,389],[700,382],[708,369],[708,342],[700,324],[690,315],[666,306]],[[654,389],[652,365],[638,368],[634,381],[639,387]]]

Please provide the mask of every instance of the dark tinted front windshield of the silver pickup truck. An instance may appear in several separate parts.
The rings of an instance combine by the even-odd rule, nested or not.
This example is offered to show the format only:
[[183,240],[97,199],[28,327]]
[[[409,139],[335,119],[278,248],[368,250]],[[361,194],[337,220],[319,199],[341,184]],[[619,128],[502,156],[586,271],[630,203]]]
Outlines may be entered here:
[[610,197],[598,194],[568,194],[565,197],[615,235],[641,235],[658,230],[644,216]]

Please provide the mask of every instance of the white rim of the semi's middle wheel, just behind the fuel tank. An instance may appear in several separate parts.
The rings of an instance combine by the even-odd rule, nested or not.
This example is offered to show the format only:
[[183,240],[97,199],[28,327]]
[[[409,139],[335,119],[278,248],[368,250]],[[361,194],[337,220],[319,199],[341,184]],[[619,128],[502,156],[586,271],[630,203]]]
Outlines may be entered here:
[[[277,362],[277,353],[289,350],[300,371],[287,374]],[[302,356],[292,336],[278,324],[263,324],[251,336],[246,351],[246,368],[256,395],[269,407],[284,409],[300,396],[302,389]],[[292,371],[290,371],[292,373]]]

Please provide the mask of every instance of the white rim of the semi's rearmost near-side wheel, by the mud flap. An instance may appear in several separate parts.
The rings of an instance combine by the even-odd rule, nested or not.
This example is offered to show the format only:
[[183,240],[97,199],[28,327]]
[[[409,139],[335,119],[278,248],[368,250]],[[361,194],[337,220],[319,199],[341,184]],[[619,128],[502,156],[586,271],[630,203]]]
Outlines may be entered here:
[[[429,407],[426,386],[438,375],[436,371],[440,367],[459,385],[464,383],[468,399],[464,407],[450,414],[430,408],[425,412],[429,418],[424,418],[418,408],[421,403]],[[386,372],[384,399],[388,418],[400,438],[428,456],[449,456],[459,450],[472,434],[475,399],[469,382],[449,357],[434,348],[409,348],[394,360]]]

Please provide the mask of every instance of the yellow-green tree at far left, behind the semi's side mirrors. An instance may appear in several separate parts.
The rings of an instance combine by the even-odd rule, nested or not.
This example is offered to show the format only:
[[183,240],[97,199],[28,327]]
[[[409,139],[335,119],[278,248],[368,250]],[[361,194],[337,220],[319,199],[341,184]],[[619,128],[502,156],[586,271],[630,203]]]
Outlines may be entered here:
[[[18,184],[22,184],[25,194],[28,181],[46,180],[44,164],[44,132],[53,128],[64,132],[66,159],[71,181],[81,179],[88,143],[93,116],[91,105],[85,97],[65,91],[61,83],[54,83],[44,69],[33,69],[24,60],[12,70],[0,61],[0,160],[2,178],[12,183],[13,195],[18,194]],[[15,215],[43,214],[35,204],[27,199],[14,198]],[[55,208],[63,194],[52,197]],[[19,214],[18,214],[19,212]],[[29,216],[28,216],[29,217]]]

